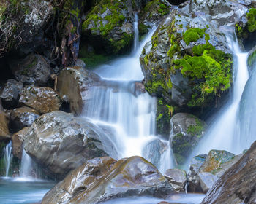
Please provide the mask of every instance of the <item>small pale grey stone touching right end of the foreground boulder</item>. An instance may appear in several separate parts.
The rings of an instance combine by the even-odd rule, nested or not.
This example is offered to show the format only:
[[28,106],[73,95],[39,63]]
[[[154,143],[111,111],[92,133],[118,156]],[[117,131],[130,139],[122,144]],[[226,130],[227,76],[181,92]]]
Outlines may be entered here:
[[168,169],[165,171],[165,178],[170,182],[170,185],[176,192],[186,192],[187,173],[181,169]]

